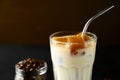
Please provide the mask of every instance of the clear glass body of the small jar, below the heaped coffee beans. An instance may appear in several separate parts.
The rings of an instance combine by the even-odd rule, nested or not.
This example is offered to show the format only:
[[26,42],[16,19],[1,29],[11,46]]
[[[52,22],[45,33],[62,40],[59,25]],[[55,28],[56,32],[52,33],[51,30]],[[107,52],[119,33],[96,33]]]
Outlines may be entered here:
[[[20,61],[19,63],[21,63]],[[47,77],[47,63],[44,62],[44,66],[40,69],[36,69],[32,72],[27,72],[20,69],[18,65],[15,65],[15,80],[46,80]]]

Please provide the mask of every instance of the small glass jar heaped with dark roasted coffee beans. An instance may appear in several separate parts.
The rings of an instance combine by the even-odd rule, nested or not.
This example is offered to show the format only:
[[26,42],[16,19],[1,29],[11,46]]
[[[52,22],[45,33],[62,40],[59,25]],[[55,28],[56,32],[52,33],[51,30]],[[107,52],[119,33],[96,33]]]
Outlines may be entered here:
[[47,63],[42,59],[27,58],[15,65],[15,80],[46,80]]

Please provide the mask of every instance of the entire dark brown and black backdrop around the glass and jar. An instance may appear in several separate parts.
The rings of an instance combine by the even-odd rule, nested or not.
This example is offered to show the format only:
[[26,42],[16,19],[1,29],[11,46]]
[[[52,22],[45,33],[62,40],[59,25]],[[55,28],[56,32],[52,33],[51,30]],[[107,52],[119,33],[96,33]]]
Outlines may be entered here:
[[50,34],[82,31],[90,17],[113,4],[88,31],[98,36],[93,80],[120,80],[119,0],[0,0],[0,80],[14,80],[15,64],[28,57],[46,60],[47,80],[53,80]]

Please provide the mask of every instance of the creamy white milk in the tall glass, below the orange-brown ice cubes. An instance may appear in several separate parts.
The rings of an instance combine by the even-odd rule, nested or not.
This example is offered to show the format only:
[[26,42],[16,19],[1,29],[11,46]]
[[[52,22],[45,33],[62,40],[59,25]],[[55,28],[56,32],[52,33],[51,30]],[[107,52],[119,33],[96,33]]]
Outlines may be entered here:
[[55,80],[91,80],[95,58],[96,41],[90,38],[85,42],[85,49],[71,50],[65,44],[50,44]]

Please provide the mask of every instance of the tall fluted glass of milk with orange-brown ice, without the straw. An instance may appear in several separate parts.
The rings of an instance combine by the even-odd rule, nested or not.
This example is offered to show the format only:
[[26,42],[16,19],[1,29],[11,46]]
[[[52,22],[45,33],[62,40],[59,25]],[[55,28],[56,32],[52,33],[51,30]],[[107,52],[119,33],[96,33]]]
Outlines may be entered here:
[[91,80],[97,37],[87,32],[88,40],[84,41],[84,48],[79,48],[73,46],[77,44],[77,40],[73,39],[74,42],[70,42],[68,39],[77,33],[60,31],[50,36],[54,80]]

